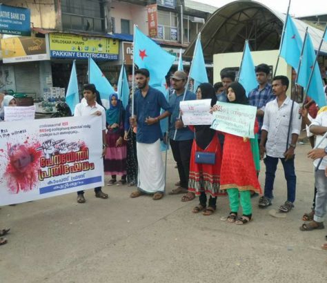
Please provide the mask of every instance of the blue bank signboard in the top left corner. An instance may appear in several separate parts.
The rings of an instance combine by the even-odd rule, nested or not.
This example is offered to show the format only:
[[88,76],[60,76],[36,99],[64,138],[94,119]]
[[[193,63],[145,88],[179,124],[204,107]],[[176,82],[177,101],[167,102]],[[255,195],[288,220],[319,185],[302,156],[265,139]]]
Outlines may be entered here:
[[30,9],[0,4],[0,33],[30,36]]

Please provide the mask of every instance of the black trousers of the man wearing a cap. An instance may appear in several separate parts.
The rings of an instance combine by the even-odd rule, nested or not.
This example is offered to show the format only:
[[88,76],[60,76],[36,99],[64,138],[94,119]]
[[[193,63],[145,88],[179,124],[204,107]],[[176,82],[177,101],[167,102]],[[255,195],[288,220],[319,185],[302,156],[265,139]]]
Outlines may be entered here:
[[182,188],[188,188],[188,175],[190,174],[190,154],[193,139],[186,141],[174,141],[170,139],[172,155],[177,163],[179,181]]

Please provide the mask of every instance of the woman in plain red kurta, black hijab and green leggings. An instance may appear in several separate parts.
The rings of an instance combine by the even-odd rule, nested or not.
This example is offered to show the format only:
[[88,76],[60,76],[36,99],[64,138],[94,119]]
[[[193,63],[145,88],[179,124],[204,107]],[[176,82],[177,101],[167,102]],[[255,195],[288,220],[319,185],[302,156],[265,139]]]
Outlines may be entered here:
[[[248,105],[246,91],[241,84],[235,82],[228,87],[228,102]],[[214,108],[215,110],[215,108]],[[255,133],[259,130],[255,121]],[[261,193],[257,171],[252,157],[250,139],[225,133],[224,152],[221,162],[220,189],[227,190],[230,202],[229,222],[246,224],[252,217],[250,191]],[[239,202],[243,208],[243,216],[237,218]]]

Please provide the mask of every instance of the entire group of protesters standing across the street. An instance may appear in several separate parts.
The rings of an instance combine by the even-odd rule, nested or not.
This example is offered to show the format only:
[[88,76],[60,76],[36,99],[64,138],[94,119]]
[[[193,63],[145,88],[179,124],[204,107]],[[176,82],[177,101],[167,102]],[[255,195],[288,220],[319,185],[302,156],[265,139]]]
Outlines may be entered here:
[[[259,208],[271,206],[279,159],[284,168],[287,196],[277,213],[288,213],[294,208],[297,180],[295,148],[301,130],[300,114],[308,133],[317,135],[316,142],[319,142],[318,148],[308,153],[308,157],[315,160],[316,168],[313,210],[304,214],[305,223],[300,230],[324,228],[327,142],[325,138],[322,142],[320,139],[327,131],[326,109],[321,108],[316,113],[317,117],[311,117],[309,104],[300,109],[299,104],[286,95],[289,87],[286,76],[275,76],[270,84],[270,68],[266,64],[259,64],[255,73],[259,85],[248,94],[235,81],[235,74],[228,70],[221,71],[221,82],[214,86],[200,84],[193,93],[186,89],[186,72],[176,71],[170,77],[173,91],[167,101],[162,92],[149,85],[148,70],[141,68],[135,71],[137,90],[134,97],[130,95],[126,109],[116,93],[110,95],[110,106],[106,109],[95,85],[87,84],[83,86],[84,101],[77,104],[74,115],[101,116],[102,156],[105,174],[111,176],[109,186],[136,186],[137,190],[130,194],[132,198],[145,194],[153,195],[154,200],[164,197],[166,176],[160,149],[163,139],[166,143],[169,141],[179,174],[179,182],[169,194],[184,194],[181,197],[183,202],[199,196],[199,204],[192,208],[192,213],[212,215],[217,208],[217,197],[227,193],[230,212],[221,220],[244,225],[252,220],[251,197],[261,195]],[[218,110],[217,101],[255,106],[255,138],[219,132],[211,125],[184,125],[179,104],[195,99],[210,99],[211,113]],[[2,100],[4,104],[8,99]],[[310,101],[312,105],[315,106],[314,101]],[[163,137],[159,121],[167,117],[168,133]],[[266,165],[264,190],[258,181],[259,159],[263,159]],[[121,178],[117,180],[117,176]],[[95,188],[95,196],[108,198],[101,187]],[[77,192],[77,202],[86,202],[83,191]],[[8,232],[8,229],[3,229],[0,236]],[[1,238],[0,244],[6,244],[6,239]],[[327,249],[327,244],[322,248]]]

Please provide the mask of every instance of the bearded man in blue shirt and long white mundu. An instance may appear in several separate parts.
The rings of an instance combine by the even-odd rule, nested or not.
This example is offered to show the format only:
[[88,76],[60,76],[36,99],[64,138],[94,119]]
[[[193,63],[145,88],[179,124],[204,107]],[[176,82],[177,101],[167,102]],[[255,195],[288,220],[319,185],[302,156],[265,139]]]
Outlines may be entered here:
[[[162,138],[159,121],[172,113],[164,94],[149,86],[150,73],[141,68],[135,71],[139,90],[135,92],[135,115],[130,117],[132,126],[137,124],[137,160],[139,175],[137,191],[130,197],[153,194],[153,199],[161,199],[165,190],[164,162],[160,151]],[[160,114],[160,109],[165,110]]]

